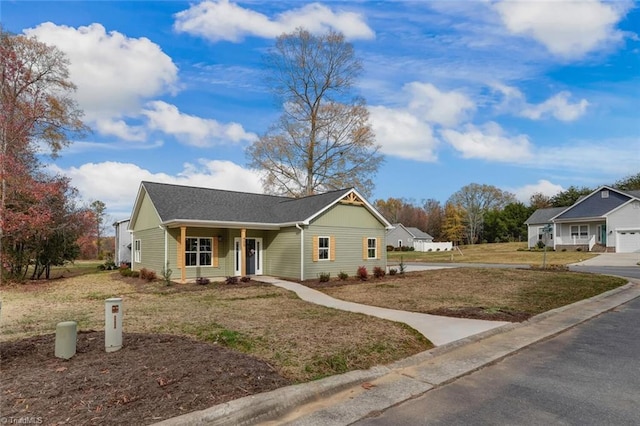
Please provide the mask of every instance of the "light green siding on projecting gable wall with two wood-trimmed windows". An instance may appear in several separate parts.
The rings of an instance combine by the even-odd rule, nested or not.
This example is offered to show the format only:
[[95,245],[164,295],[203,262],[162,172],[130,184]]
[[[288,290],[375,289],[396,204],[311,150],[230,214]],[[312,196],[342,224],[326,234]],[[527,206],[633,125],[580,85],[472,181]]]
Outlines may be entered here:
[[[358,266],[369,274],[373,268],[386,268],[385,227],[365,207],[338,204],[305,229],[304,278],[315,279],[321,273],[336,277],[339,272],[354,276]],[[334,260],[313,261],[314,236],[334,237]],[[363,259],[363,238],[377,238],[380,259]]]

